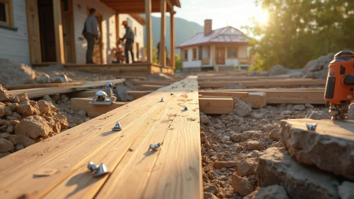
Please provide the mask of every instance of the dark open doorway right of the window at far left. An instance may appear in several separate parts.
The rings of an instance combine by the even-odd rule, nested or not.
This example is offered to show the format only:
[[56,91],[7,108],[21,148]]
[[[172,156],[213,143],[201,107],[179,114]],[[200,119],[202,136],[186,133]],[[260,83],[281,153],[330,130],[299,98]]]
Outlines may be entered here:
[[38,0],[42,62],[56,62],[53,0]]

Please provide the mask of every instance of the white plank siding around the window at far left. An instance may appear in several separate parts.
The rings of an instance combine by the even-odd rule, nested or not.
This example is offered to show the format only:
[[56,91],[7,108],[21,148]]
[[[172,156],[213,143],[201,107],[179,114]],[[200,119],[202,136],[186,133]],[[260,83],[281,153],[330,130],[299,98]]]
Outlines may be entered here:
[[17,31],[0,28],[0,58],[30,65],[25,0],[12,1],[13,22]]

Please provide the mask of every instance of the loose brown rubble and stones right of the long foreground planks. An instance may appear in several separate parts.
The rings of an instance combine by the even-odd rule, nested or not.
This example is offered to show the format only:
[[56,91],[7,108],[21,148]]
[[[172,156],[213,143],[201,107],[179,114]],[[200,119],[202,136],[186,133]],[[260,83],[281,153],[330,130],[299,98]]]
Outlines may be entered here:
[[204,198],[338,198],[350,187],[348,181],[337,189],[340,182],[298,163],[282,144],[281,119],[329,119],[325,107],[234,103],[227,115],[200,112]]

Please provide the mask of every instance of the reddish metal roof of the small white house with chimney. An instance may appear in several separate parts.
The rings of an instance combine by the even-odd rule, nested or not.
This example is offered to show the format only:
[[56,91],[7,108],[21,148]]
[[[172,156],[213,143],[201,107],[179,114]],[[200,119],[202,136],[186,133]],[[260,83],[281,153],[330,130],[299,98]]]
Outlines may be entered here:
[[185,46],[193,46],[198,44],[206,43],[218,43],[218,42],[230,42],[230,43],[245,43],[248,42],[249,38],[245,36],[240,30],[227,26],[224,28],[219,28],[212,30],[208,35],[204,33],[198,33],[187,41],[183,42],[181,45],[176,48],[181,48]]

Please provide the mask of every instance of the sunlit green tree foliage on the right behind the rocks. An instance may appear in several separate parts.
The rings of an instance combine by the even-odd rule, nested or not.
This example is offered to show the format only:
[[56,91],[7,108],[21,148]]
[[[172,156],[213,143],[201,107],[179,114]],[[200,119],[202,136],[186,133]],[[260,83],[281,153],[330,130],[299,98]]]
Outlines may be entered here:
[[253,69],[275,64],[302,68],[309,60],[354,49],[353,0],[256,0],[268,11],[267,24],[244,27],[258,40]]

